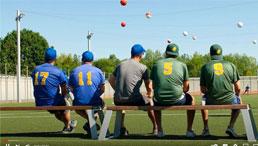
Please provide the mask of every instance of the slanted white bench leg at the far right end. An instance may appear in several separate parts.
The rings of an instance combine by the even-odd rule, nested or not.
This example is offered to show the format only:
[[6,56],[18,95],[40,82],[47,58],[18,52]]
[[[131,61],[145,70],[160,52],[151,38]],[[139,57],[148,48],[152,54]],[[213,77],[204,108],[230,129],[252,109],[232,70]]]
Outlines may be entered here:
[[255,121],[254,121],[251,109],[249,107],[248,109],[241,109],[241,112],[244,120],[247,140],[256,141],[258,138],[258,135],[257,135],[257,129],[256,129],[256,125],[255,125]]

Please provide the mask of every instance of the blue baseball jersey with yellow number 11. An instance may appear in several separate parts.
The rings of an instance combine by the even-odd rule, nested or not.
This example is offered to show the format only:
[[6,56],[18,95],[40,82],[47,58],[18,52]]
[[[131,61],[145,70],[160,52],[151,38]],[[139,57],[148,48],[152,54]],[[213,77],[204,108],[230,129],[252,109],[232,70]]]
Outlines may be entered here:
[[73,88],[73,104],[101,106],[100,86],[103,84],[103,72],[97,67],[84,64],[75,68],[69,78],[69,85]]

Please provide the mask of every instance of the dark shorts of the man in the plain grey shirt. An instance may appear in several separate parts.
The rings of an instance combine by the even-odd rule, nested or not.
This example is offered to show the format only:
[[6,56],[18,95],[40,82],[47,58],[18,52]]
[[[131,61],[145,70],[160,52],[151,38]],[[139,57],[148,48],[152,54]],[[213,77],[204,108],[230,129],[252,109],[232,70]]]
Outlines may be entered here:
[[144,106],[146,104],[143,97],[132,97],[128,99],[114,98],[115,105],[127,105],[127,106]]

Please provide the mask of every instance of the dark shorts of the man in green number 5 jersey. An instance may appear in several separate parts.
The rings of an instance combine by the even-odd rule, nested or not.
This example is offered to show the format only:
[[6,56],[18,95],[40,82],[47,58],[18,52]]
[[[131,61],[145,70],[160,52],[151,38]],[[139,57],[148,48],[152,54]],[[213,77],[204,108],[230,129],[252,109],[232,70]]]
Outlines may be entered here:
[[154,100],[155,106],[172,106],[172,105],[192,105],[193,97],[189,93],[184,93],[176,103],[160,103]]

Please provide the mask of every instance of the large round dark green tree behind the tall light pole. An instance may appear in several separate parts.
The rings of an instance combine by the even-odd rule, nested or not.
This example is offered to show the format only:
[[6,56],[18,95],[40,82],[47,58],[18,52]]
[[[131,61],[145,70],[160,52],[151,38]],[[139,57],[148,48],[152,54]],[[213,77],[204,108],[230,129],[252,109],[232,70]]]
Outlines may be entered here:
[[[8,68],[8,74],[16,74],[17,35],[16,31],[8,33],[1,41],[1,64]],[[26,66],[31,72],[36,65],[44,63],[44,51],[48,48],[47,40],[37,32],[23,29],[21,31],[21,73],[26,74]]]

